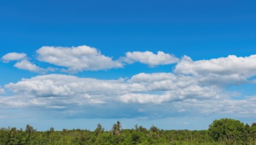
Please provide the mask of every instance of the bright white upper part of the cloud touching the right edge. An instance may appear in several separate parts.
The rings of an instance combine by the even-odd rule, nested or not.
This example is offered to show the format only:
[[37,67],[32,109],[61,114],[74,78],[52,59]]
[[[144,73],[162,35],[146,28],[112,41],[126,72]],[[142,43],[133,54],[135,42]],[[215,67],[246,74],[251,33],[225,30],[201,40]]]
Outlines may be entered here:
[[198,61],[193,61],[191,58],[184,56],[175,67],[175,72],[179,74],[193,74],[195,76],[220,74],[235,75],[232,77],[237,78],[250,78],[256,75],[256,55],[250,55],[249,57],[228,55],[228,57]]

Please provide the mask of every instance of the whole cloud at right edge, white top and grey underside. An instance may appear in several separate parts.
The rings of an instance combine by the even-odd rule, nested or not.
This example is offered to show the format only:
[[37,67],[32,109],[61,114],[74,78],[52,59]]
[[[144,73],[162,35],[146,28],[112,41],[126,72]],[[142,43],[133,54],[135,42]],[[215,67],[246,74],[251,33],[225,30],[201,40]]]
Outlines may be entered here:
[[193,75],[200,83],[241,85],[256,75],[256,55],[236,57],[228,55],[210,60],[193,61],[184,56],[175,67],[176,74]]

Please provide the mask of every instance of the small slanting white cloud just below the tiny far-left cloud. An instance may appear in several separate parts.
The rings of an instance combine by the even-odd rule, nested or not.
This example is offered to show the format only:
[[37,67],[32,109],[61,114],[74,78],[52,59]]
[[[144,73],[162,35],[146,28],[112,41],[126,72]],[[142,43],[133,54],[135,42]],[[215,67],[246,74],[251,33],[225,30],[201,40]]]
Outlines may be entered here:
[[18,69],[24,69],[31,72],[45,72],[45,69],[42,69],[35,64],[32,64],[29,60],[24,59],[20,62],[17,62],[14,67],[17,67]]

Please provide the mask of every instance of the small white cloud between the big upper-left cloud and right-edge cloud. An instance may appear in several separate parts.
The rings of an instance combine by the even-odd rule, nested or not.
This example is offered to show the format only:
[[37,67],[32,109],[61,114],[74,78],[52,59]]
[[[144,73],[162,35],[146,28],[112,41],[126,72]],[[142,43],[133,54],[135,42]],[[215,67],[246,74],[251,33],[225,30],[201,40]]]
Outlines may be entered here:
[[123,58],[125,62],[133,63],[140,62],[141,64],[147,64],[150,67],[174,64],[179,61],[177,57],[172,54],[157,52],[154,54],[152,52],[127,52]]

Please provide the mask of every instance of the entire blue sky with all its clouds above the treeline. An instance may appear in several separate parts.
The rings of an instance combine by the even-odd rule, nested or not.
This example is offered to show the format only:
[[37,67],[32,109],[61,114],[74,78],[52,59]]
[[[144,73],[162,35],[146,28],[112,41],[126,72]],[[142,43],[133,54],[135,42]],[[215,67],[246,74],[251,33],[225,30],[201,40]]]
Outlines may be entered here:
[[256,119],[256,1],[0,1],[0,127]]

